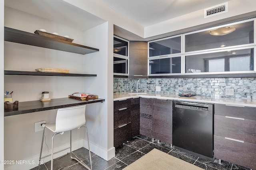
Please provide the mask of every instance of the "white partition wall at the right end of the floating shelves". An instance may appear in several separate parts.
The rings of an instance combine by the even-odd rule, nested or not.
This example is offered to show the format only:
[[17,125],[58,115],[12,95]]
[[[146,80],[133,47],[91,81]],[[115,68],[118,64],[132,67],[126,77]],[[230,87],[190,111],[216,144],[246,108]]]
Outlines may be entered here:
[[[97,74],[97,77],[88,77],[84,89],[86,93],[99,95],[106,99],[98,103],[97,107],[88,105],[86,108],[90,142],[100,146],[102,151],[94,153],[109,160],[114,157],[113,147],[113,24],[108,22],[96,26],[85,32],[85,43],[91,43],[100,49],[99,52],[86,55],[84,69]],[[88,92],[87,92],[88,91]],[[93,149],[92,149],[93,151]]]

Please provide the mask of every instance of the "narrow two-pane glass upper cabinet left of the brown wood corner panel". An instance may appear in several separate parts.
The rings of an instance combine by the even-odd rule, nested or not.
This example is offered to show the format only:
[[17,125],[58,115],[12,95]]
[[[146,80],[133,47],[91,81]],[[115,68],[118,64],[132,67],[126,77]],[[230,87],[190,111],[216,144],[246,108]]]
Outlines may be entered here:
[[128,75],[129,41],[114,36],[114,75]]

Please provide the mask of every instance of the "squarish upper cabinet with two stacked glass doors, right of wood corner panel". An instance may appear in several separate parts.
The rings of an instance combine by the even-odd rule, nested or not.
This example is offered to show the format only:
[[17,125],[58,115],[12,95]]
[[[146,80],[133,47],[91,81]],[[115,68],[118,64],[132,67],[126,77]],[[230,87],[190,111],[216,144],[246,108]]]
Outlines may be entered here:
[[148,42],[148,75],[180,75],[181,54],[182,35]]

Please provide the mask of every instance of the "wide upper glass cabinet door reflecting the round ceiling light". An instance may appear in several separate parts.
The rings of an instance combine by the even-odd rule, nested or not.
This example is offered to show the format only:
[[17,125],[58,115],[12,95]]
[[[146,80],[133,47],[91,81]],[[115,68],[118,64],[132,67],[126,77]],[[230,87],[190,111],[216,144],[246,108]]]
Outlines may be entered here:
[[254,20],[184,34],[184,52],[222,49],[254,43]]

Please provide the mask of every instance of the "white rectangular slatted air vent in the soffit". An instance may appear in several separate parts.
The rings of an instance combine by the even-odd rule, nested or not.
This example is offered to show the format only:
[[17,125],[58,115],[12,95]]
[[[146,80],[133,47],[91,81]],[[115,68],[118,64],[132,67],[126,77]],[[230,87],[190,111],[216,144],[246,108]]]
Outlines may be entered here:
[[228,2],[204,9],[204,18],[228,12]]

